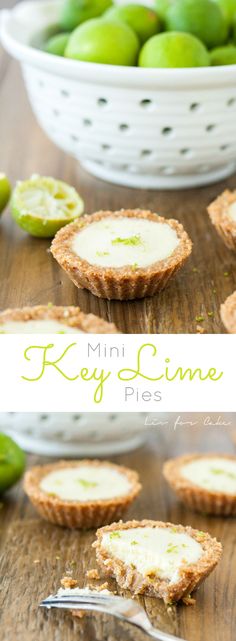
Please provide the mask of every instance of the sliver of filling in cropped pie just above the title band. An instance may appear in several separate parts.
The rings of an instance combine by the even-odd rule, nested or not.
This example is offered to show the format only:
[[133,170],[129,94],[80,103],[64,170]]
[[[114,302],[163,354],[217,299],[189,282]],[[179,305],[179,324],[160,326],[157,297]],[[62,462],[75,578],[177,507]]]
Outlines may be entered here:
[[84,334],[75,327],[69,327],[53,319],[0,322],[0,334]]

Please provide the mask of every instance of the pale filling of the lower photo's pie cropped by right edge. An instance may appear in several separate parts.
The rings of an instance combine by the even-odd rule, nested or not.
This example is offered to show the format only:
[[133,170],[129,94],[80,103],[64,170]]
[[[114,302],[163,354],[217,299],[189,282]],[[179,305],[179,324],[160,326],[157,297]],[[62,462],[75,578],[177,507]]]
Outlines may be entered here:
[[236,461],[202,458],[181,468],[181,476],[206,490],[236,494]]

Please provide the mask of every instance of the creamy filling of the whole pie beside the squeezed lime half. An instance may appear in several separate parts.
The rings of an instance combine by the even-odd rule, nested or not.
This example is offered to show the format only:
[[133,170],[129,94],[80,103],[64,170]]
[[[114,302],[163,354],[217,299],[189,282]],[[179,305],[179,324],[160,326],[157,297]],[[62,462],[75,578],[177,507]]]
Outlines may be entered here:
[[147,267],[171,256],[179,244],[167,223],[142,218],[105,218],[74,236],[72,249],[101,267]]

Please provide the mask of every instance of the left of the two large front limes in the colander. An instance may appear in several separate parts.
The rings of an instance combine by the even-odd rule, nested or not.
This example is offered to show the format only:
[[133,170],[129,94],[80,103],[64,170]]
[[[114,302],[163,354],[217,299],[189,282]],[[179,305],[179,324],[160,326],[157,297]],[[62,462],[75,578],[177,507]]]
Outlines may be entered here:
[[139,41],[132,29],[115,20],[88,20],[70,36],[65,56],[107,65],[136,64]]

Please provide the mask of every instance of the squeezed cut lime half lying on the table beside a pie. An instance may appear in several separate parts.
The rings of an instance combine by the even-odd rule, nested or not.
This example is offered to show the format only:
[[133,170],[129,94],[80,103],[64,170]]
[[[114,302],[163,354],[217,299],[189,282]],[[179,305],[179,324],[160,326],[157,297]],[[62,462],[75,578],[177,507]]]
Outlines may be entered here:
[[84,203],[70,185],[36,175],[17,183],[11,210],[17,224],[29,234],[51,238],[83,213]]

